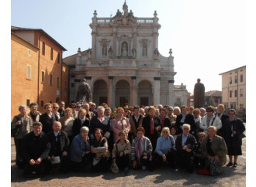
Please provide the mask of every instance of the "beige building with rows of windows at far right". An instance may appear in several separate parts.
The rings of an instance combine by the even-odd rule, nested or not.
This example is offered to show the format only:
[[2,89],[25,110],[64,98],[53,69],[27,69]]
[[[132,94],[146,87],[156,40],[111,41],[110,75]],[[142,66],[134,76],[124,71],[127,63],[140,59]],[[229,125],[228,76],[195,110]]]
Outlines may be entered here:
[[220,73],[222,76],[222,99],[226,109],[246,108],[246,66]]

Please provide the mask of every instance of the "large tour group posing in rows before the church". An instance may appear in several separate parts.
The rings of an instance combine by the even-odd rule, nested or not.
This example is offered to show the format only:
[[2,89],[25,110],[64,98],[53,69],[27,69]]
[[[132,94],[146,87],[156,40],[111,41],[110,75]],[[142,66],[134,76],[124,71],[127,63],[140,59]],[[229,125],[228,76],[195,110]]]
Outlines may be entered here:
[[[44,175],[59,165],[61,172],[148,169],[167,165],[193,172],[227,163],[237,167],[245,127],[235,117],[224,114],[224,106],[194,108],[182,106],[134,106],[125,104],[112,110],[107,104],[90,102],[19,106],[11,123],[16,145],[16,165],[24,175]],[[234,162],[233,162],[234,156]],[[212,169],[214,168],[214,169]]]

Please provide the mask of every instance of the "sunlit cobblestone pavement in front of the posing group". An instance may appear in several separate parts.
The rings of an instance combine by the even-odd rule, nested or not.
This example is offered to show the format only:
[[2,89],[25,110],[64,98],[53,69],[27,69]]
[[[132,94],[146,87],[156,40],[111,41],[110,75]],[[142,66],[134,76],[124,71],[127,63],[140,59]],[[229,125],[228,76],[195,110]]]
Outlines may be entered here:
[[43,178],[25,179],[22,170],[15,165],[15,145],[11,141],[11,185],[12,186],[246,186],[246,138],[243,139],[243,155],[238,157],[237,168],[223,167],[224,174],[219,177],[192,174],[170,168],[156,168],[154,172],[133,171],[119,172],[54,172]]

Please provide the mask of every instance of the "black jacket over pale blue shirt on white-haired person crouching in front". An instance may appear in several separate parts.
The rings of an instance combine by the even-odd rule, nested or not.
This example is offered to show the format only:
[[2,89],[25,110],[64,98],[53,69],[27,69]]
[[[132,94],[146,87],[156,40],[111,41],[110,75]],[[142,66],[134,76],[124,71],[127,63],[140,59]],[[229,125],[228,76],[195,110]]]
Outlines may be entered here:
[[[197,141],[192,134],[188,135],[187,141],[185,141],[185,145],[187,145],[188,148],[192,149],[191,153],[195,151],[198,147]],[[182,134],[178,134],[175,141],[175,147],[178,152],[182,152]]]

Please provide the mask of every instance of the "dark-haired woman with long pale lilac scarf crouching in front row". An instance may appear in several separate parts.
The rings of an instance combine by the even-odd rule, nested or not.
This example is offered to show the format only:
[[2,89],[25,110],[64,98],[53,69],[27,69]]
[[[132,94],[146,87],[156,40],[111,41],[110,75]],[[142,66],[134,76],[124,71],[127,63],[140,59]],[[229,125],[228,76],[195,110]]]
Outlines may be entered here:
[[144,137],[144,133],[144,128],[138,128],[137,137],[132,142],[131,162],[133,169],[142,168],[145,170],[152,162],[153,148],[150,139]]

